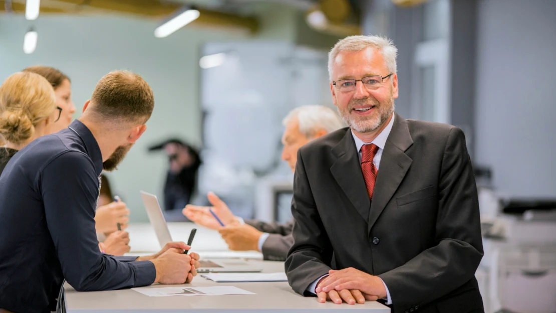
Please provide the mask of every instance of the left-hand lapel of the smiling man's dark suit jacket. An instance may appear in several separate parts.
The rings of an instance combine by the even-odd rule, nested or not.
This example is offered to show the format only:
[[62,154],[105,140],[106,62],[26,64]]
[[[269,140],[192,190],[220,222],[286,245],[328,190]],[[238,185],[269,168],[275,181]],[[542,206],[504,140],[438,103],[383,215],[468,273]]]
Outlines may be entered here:
[[361,217],[368,221],[371,203],[356,149],[351,130],[348,128],[344,138],[332,148],[337,160],[330,167],[330,172]]

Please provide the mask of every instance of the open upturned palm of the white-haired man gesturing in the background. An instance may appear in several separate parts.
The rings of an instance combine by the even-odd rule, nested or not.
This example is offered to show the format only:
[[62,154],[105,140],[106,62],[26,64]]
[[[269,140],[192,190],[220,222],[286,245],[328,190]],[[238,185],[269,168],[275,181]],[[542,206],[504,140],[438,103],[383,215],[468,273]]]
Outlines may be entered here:
[[214,218],[214,216],[212,216],[209,212],[209,208],[211,208],[224,225],[230,226],[239,224],[239,221],[234,216],[234,213],[230,211],[228,206],[226,206],[226,203],[220,200],[216,194],[209,192],[207,194],[207,198],[209,198],[209,202],[212,204],[212,207],[192,206],[191,204],[188,204],[182,211],[183,215],[201,226],[211,229],[221,229],[222,226],[220,223],[216,221],[216,218]]

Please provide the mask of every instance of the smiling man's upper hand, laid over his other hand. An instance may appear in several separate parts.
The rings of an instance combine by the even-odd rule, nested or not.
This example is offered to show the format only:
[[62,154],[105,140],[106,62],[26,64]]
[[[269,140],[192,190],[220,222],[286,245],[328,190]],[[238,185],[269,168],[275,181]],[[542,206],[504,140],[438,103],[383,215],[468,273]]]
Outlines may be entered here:
[[340,271],[330,270],[329,275],[318,283],[315,292],[319,294],[320,292],[354,289],[360,290],[366,295],[376,296],[378,299],[386,297],[386,288],[378,276],[369,275],[353,267]]

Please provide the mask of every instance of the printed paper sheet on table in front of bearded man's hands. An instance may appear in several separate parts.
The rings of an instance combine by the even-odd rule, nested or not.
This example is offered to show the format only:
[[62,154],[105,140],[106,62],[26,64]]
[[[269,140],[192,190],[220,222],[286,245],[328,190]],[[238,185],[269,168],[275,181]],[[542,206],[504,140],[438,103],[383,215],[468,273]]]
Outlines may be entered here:
[[149,297],[255,295],[234,286],[131,288]]

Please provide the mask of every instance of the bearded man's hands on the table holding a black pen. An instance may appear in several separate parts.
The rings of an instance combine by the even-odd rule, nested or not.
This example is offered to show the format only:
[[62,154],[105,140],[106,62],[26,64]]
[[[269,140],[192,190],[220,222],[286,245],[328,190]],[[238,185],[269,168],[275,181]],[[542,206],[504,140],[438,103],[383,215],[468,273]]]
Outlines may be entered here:
[[190,250],[185,242],[168,242],[155,255],[138,257],[136,261],[151,261],[156,268],[155,283],[175,285],[189,283],[197,276],[197,268],[201,267],[199,255],[183,250]]

